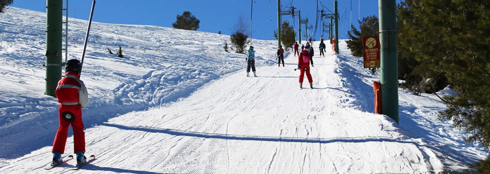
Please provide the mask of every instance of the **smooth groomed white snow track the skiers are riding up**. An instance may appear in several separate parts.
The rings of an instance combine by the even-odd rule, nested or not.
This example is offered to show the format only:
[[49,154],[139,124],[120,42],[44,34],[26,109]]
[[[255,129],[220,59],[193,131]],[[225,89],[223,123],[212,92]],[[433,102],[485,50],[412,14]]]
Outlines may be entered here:
[[[246,77],[245,69],[231,73],[167,107],[130,112],[88,129],[87,154],[98,158],[73,173],[439,172],[434,153],[401,135],[393,120],[346,107],[349,94],[338,74],[339,59],[328,48],[325,55],[314,57],[314,89],[299,89],[297,58],[289,54],[286,67],[257,68],[259,77]],[[50,148],[0,170],[73,168],[69,163],[44,171]],[[71,150],[73,137],[67,142]]]

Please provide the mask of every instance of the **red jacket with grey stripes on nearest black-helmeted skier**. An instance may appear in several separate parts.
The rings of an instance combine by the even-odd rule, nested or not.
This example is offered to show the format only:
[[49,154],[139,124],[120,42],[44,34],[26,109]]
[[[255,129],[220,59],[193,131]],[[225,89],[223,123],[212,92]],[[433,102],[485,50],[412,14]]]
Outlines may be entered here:
[[66,77],[58,82],[55,93],[61,105],[80,105],[80,109],[87,106],[87,88],[74,72],[66,73]]

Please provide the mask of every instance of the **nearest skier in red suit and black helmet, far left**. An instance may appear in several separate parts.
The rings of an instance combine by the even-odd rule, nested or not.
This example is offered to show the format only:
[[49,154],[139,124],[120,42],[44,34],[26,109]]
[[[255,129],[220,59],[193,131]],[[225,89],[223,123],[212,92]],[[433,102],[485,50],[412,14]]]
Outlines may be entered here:
[[56,165],[63,160],[61,154],[65,153],[65,144],[68,135],[68,128],[72,125],[73,141],[78,165],[86,162],[85,157],[85,132],[82,122],[82,110],[88,103],[88,92],[85,84],[78,79],[82,65],[76,59],[69,60],[66,64],[66,77],[58,82],[55,93],[59,106],[59,125],[58,131],[53,142],[53,162]]

